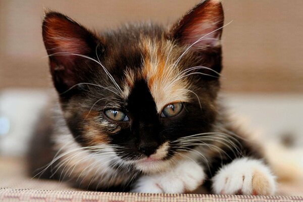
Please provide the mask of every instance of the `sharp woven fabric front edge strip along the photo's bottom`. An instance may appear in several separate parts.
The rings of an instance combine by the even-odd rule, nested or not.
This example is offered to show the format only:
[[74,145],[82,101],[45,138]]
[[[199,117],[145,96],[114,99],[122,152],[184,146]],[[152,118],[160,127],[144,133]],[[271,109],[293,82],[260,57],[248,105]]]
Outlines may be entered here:
[[300,196],[245,196],[203,194],[148,194],[91,191],[50,191],[25,189],[0,189],[0,200],[10,201],[79,201],[79,202],[189,202],[189,201],[302,201]]

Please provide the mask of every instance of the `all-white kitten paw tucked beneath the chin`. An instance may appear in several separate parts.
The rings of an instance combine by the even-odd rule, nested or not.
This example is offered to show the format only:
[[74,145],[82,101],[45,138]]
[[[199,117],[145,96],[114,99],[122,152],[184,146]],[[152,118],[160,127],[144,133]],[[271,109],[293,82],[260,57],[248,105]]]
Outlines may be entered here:
[[143,193],[185,193],[203,184],[205,173],[195,162],[186,161],[168,172],[145,175],[138,179],[133,192]]

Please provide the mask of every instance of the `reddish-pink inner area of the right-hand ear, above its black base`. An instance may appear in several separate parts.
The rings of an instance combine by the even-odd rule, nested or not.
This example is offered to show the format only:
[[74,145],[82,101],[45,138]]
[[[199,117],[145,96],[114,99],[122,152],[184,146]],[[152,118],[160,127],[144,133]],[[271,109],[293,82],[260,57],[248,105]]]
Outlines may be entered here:
[[220,46],[224,14],[221,1],[205,0],[195,6],[171,29],[171,36],[193,48]]

